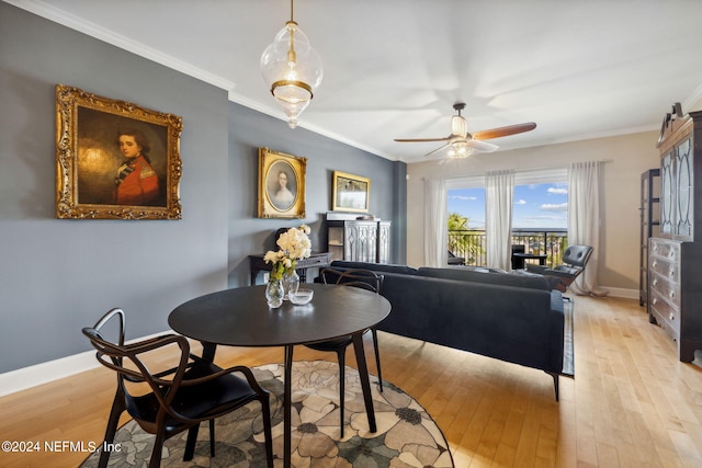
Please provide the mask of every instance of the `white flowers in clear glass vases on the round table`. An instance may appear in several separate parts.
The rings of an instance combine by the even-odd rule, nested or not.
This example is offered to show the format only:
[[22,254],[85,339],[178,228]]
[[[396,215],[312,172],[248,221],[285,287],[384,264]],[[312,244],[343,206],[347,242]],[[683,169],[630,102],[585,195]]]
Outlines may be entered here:
[[[312,254],[309,232],[309,226],[307,225],[290,228],[286,232],[281,233],[275,241],[280,249],[265,252],[263,260],[265,263],[273,265],[269,284],[265,288],[265,297],[270,307],[281,307],[282,300],[287,298],[288,294],[297,293],[299,276],[295,272],[295,266],[298,260],[308,259]],[[278,300],[279,285],[272,284],[274,282],[281,283],[282,295],[280,301]],[[271,298],[269,298],[269,295]]]

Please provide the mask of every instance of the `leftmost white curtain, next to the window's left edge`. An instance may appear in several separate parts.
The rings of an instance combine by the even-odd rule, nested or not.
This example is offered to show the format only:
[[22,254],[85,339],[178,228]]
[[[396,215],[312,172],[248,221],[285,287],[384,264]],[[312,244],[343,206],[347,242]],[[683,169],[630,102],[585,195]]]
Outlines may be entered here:
[[424,180],[424,265],[446,266],[448,253],[446,183]]

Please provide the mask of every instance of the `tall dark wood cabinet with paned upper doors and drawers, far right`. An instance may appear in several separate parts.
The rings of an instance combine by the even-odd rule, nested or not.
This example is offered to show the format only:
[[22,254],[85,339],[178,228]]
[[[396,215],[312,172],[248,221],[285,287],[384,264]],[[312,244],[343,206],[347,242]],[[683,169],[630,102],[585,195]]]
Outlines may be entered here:
[[702,112],[670,117],[658,141],[660,232],[648,241],[648,316],[678,342],[680,361],[691,362],[702,350]]

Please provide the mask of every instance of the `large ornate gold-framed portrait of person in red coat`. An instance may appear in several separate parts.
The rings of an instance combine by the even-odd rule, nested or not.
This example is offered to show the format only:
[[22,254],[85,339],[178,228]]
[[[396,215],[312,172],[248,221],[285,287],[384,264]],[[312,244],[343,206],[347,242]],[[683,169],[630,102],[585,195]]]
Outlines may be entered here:
[[182,117],[56,85],[56,217],[181,219]]

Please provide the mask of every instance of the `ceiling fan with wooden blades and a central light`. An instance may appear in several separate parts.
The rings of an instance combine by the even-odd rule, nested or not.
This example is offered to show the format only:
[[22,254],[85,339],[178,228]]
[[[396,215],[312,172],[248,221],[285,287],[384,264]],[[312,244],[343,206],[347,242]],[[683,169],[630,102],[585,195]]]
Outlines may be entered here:
[[461,116],[461,111],[465,109],[465,103],[457,102],[453,104],[453,109],[458,112],[458,115],[451,117],[451,135],[445,138],[395,138],[395,141],[399,142],[427,142],[427,141],[446,141],[441,148],[437,148],[424,156],[433,155],[445,148],[449,148],[449,156],[451,158],[466,158],[473,153],[474,150],[483,152],[492,152],[498,146],[492,145],[484,140],[491,138],[500,138],[509,135],[521,134],[530,132],[536,128],[536,124],[529,122],[526,124],[509,125],[507,127],[492,128],[489,130],[477,132],[473,135],[468,133],[468,124]]

